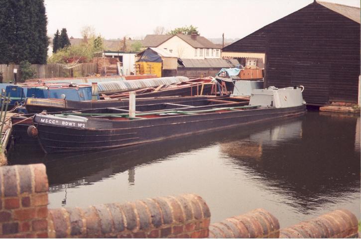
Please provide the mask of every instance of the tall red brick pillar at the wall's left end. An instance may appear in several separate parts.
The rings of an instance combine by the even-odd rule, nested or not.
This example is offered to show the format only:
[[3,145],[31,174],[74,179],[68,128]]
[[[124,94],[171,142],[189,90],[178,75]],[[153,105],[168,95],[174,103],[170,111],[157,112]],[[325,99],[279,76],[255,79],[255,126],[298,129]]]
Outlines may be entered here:
[[0,167],[0,237],[48,237],[44,164]]

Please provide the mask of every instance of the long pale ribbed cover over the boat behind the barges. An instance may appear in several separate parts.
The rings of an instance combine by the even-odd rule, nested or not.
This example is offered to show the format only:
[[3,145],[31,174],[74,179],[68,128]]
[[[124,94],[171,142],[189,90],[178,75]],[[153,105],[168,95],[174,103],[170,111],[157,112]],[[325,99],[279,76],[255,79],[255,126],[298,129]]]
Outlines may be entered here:
[[131,90],[143,89],[148,87],[157,87],[160,85],[171,85],[185,81],[189,81],[188,77],[176,76],[176,77],[161,77],[161,78],[131,80],[131,81],[99,82],[98,92],[116,93],[121,91],[131,91]]

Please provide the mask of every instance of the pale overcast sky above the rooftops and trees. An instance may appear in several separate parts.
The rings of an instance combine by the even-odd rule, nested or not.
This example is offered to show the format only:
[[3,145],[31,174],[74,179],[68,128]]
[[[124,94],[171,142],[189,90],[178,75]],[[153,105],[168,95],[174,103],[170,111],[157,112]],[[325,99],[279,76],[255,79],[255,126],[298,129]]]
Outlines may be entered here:
[[[360,0],[327,0],[360,7]],[[156,26],[194,25],[202,36],[241,38],[313,0],[45,0],[48,35],[81,37],[93,26],[106,39],[144,37]]]

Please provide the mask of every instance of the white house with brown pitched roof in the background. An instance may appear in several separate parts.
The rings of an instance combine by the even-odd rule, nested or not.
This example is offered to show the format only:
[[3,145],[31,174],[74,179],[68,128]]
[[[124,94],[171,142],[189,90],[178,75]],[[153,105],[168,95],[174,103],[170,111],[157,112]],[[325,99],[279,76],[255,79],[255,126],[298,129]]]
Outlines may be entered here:
[[165,49],[178,58],[221,58],[221,47],[197,34],[146,35],[143,46]]

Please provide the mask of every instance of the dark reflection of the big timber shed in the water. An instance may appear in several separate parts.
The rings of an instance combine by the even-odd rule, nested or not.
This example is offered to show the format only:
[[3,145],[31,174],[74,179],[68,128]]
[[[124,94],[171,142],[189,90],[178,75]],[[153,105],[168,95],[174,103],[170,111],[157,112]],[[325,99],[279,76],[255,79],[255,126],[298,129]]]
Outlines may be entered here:
[[[335,120],[336,119],[336,120]],[[221,143],[232,162],[285,202],[308,213],[360,191],[360,118],[308,114],[246,139]],[[355,131],[356,128],[356,131]]]

